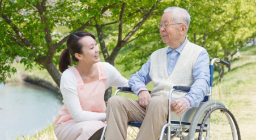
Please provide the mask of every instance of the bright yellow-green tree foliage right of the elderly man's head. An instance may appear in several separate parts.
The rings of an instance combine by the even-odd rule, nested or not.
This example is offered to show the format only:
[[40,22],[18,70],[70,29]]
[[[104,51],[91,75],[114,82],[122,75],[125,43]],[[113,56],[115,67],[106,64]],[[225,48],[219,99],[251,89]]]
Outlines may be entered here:
[[[191,40],[203,46],[209,52],[210,58],[220,58],[229,62],[228,71],[231,70],[231,61],[237,49],[241,49],[255,34],[255,1],[204,1],[202,7],[191,7],[196,19],[191,25],[189,33]],[[198,3],[198,2],[196,2]],[[195,3],[191,3],[195,5]],[[202,4],[202,3],[201,3]],[[207,6],[206,6],[207,5]],[[200,14],[199,11],[204,11]],[[197,26],[197,27],[195,27]],[[255,35],[254,35],[255,36]],[[224,75],[224,66],[215,65],[220,80]]]

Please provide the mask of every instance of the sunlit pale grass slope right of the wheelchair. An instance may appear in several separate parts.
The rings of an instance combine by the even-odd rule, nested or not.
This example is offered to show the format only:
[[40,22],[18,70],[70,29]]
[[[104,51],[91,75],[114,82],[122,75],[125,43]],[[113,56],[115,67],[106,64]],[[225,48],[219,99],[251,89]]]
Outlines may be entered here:
[[240,58],[233,60],[232,70],[213,87],[212,99],[220,100],[231,110],[242,139],[255,139],[248,130],[256,128],[256,47],[245,47],[240,54]]

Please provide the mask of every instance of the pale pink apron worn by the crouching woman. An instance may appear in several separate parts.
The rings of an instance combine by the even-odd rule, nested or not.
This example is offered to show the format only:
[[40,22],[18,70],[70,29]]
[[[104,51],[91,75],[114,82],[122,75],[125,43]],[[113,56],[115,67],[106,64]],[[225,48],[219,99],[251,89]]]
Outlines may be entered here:
[[[78,82],[78,98],[82,110],[104,113],[106,111],[104,102],[106,88],[104,63],[97,63],[97,68],[99,80],[87,84],[83,83],[82,77],[75,67],[70,67],[69,70],[75,75]],[[54,132],[58,139],[89,139],[104,125],[102,121],[75,122],[66,105],[63,104],[55,120]]]

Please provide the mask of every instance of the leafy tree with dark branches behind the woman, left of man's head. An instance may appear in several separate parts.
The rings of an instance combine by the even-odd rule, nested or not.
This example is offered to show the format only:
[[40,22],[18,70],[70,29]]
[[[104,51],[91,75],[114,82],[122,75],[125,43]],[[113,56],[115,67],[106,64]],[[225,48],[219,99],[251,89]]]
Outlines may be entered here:
[[[27,69],[34,62],[47,69],[59,86],[56,52],[62,51],[69,35],[78,30],[96,30],[105,61],[114,65],[125,45],[150,33],[140,28],[159,11],[159,1],[1,0],[0,80],[16,72],[11,63],[19,57]],[[70,33],[63,37],[54,32],[59,26],[69,27]],[[110,95],[105,94],[105,100]]]

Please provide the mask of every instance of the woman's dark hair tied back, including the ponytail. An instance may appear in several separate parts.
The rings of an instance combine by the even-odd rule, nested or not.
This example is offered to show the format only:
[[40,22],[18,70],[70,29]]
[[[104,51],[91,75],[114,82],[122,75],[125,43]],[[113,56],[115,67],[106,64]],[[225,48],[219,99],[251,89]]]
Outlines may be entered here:
[[79,40],[85,36],[91,36],[95,40],[95,36],[88,32],[75,32],[69,36],[67,39],[67,49],[63,50],[61,56],[59,56],[59,71],[64,72],[71,65],[70,54],[74,62],[78,62],[78,59],[75,58],[75,53],[82,54],[82,44]]

